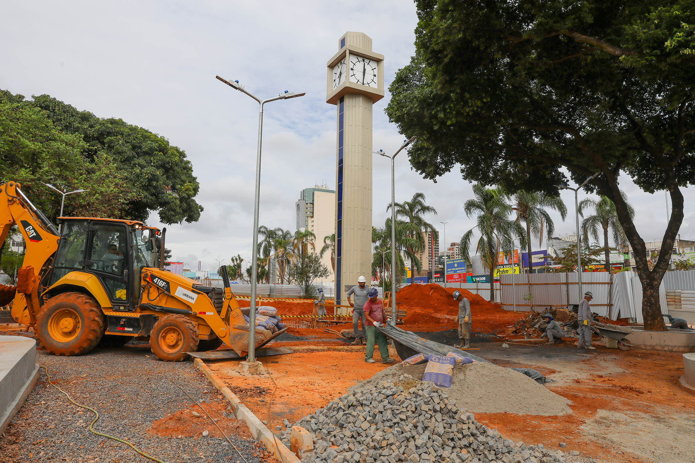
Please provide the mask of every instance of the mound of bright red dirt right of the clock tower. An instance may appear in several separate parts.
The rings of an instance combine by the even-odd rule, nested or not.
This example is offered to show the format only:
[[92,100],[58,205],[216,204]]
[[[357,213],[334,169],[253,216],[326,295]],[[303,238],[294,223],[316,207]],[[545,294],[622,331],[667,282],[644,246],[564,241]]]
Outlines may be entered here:
[[[496,303],[466,289],[445,288],[434,283],[407,285],[396,294],[396,303],[408,312],[405,325],[413,331],[438,331],[457,327],[459,303],[455,291],[471,302],[471,329],[477,332],[504,334],[508,326],[528,315],[526,312],[502,310]],[[404,328],[407,329],[407,328]]]

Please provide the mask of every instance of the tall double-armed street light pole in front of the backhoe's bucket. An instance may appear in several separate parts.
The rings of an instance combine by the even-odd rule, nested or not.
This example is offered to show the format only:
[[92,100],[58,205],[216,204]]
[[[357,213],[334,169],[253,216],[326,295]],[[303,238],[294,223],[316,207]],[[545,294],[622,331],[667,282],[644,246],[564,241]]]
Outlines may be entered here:
[[220,76],[215,76],[218,81],[226,83],[234,90],[238,90],[244,94],[247,94],[257,103],[259,103],[259,136],[258,145],[256,149],[256,192],[254,196],[254,235],[253,235],[253,249],[252,249],[252,261],[251,261],[251,303],[249,309],[249,353],[246,357],[248,363],[256,362],[256,277],[258,275],[258,244],[259,244],[259,199],[261,197],[261,142],[263,140],[263,105],[265,103],[270,103],[270,101],[284,100],[290,98],[296,98],[297,96],[304,96],[305,93],[293,93],[285,90],[284,93],[275,96],[274,98],[269,98],[261,100],[254,96],[251,92],[247,92],[244,86],[239,83],[239,81],[230,82],[225,80]]

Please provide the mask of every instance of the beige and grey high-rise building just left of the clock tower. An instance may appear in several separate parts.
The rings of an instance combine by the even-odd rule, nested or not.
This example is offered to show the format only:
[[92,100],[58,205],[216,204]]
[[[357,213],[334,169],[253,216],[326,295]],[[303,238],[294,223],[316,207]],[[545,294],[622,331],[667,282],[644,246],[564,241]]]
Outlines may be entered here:
[[[316,235],[316,252],[323,247],[323,239],[336,233],[336,192],[327,185],[315,185],[300,192],[300,199],[295,203],[297,230],[310,230]],[[335,281],[331,264],[331,253],[326,251],[321,262],[328,267],[331,276],[321,280],[324,283]]]

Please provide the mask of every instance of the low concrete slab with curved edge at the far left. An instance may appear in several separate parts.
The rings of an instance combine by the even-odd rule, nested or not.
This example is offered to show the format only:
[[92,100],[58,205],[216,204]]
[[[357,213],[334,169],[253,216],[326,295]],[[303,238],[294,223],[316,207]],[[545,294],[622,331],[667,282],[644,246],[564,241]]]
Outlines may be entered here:
[[36,341],[23,336],[0,336],[0,434],[22,407],[38,378]]

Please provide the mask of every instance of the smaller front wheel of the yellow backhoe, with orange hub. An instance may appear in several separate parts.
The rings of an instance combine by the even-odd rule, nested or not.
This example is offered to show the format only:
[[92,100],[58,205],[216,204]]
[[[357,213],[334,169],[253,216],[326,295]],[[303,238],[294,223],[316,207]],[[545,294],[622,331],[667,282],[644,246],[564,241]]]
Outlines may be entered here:
[[159,360],[181,362],[188,359],[187,352],[198,348],[198,328],[186,315],[171,314],[162,317],[149,333],[149,346]]

